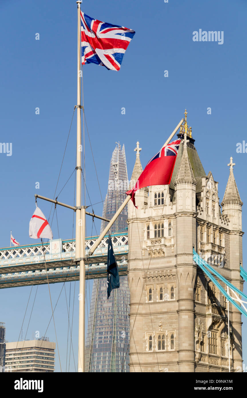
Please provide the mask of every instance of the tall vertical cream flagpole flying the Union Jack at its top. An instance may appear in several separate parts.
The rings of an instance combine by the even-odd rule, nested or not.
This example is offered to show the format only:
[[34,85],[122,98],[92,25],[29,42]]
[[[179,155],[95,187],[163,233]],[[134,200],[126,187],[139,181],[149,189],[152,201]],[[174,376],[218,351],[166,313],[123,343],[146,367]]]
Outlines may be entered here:
[[[78,330],[78,372],[84,372],[84,285],[85,285],[85,225],[81,224],[81,215],[84,215],[85,206],[81,203],[81,88],[80,88],[80,70],[81,70],[81,29],[80,29],[80,4],[77,1],[78,11],[78,43],[77,43],[77,148],[76,148],[76,261],[80,261],[80,287],[79,287],[79,330]],[[82,220],[85,224],[85,217]],[[82,228],[81,228],[82,227]],[[81,255],[82,254],[82,255]]]

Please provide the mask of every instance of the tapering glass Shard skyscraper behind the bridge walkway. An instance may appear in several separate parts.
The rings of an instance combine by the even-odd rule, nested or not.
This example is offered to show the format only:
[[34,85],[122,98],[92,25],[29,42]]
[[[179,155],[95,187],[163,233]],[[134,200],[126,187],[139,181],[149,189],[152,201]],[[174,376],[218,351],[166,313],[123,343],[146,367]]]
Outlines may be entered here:
[[[111,158],[107,195],[103,217],[111,219],[126,198],[128,175],[124,145],[117,144]],[[126,232],[126,206],[111,227],[111,235]],[[101,232],[106,226],[101,223]],[[112,239],[114,237],[112,236]],[[127,276],[120,277],[119,289],[107,300],[107,279],[94,279],[85,351],[86,372],[128,372],[129,302]]]

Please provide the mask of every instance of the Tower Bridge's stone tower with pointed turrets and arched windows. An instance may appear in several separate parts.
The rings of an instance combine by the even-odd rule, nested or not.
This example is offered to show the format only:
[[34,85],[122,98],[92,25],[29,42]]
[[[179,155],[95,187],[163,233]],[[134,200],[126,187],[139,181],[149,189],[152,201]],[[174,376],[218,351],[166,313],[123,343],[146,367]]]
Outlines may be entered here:
[[[170,185],[140,189],[138,209],[128,206],[130,372],[228,372],[228,304],[194,263],[193,247],[242,290],[243,203],[231,159],[220,207],[218,182],[204,171],[186,111],[177,136]],[[137,151],[132,179],[141,172]],[[241,314],[231,304],[229,322],[231,371],[241,371]]]

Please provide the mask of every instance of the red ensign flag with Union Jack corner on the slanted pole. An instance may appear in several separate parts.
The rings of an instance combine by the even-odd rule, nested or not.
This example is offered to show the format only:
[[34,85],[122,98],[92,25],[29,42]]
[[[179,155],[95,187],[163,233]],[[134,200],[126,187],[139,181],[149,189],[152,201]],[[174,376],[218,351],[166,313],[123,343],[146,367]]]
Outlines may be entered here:
[[150,185],[167,185],[171,182],[171,176],[180,142],[181,140],[179,139],[163,146],[161,150],[148,162],[142,174],[136,181],[135,187],[126,192],[126,195],[131,195],[131,200],[135,207],[135,193],[138,189],[148,187]]

